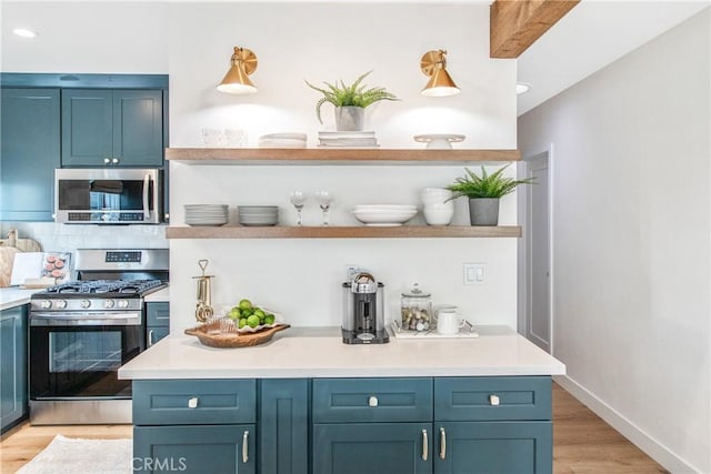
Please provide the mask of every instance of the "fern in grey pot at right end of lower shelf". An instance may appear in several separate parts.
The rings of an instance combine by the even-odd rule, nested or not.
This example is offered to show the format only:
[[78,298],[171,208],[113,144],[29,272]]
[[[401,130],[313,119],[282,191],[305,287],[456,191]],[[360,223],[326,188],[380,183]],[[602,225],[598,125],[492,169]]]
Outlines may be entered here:
[[502,167],[493,173],[487,173],[481,167],[481,175],[478,175],[468,168],[464,168],[463,178],[457,178],[453,184],[447,186],[452,191],[450,199],[462,195],[469,198],[469,219],[471,225],[498,225],[499,224],[499,199],[513,192],[519,184],[530,184],[533,178],[514,180],[502,177],[507,169]]

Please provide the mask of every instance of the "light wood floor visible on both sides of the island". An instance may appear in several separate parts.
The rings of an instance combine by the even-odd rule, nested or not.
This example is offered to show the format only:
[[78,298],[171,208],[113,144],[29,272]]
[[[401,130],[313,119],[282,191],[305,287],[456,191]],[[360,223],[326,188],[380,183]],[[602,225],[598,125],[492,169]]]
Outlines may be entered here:
[[[131,437],[130,425],[30,426],[0,442],[0,473],[14,473],[61,433],[69,437]],[[553,384],[554,474],[657,474],[668,472],[572,395]],[[84,474],[84,473],[76,473]]]

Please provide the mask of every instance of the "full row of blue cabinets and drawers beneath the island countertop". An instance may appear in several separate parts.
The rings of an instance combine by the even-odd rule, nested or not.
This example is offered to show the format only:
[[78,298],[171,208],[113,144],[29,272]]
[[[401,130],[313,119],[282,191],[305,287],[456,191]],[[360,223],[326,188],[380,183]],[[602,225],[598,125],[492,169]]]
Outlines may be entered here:
[[550,376],[136,381],[133,423],[137,472],[552,472]]

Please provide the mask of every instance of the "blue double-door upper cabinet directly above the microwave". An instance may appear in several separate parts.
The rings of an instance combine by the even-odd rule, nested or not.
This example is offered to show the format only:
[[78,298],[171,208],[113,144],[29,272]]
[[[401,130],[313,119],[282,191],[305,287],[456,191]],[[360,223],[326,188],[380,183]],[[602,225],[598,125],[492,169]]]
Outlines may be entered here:
[[62,90],[62,167],[162,167],[162,90]]

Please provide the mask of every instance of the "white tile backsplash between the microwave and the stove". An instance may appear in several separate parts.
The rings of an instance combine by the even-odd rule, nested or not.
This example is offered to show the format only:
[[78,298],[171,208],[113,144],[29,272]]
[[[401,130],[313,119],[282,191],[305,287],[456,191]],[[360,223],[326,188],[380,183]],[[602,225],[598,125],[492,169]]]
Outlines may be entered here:
[[164,225],[82,225],[54,222],[2,222],[0,235],[18,229],[20,239],[33,239],[44,252],[77,249],[168,249]]

